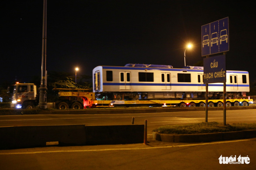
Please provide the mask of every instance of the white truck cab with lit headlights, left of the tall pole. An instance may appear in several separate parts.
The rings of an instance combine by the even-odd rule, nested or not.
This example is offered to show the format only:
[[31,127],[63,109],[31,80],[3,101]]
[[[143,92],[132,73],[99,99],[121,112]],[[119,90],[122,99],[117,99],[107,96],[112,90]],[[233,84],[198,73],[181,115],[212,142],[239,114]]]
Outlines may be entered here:
[[11,108],[33,108],[38,103],[36,94],[36,86],[33,83],[14,84]]

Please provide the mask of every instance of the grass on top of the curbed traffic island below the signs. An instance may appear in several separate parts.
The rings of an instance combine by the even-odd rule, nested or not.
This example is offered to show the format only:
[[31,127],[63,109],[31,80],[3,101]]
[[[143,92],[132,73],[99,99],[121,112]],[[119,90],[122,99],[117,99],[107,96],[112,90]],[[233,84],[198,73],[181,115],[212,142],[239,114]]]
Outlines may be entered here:
[[199,134],[199,133],[215,133],[215,132],[234,132],[243,130],[256,130],[256,123],[239,123],[224,126],[217,122],[202,122],[187,125],[167,125],[161,126],[153,130],[153,132],[163,134]]

